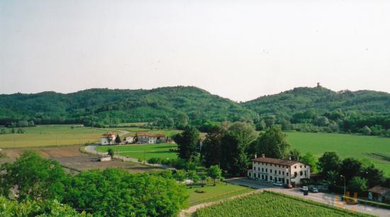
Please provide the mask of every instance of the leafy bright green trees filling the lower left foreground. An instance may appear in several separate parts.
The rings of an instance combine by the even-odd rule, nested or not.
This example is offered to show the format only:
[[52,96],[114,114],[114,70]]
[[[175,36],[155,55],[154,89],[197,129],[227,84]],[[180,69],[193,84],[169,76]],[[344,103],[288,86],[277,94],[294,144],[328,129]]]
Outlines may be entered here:
[[158,173],[106,169],[70,176],[30,151],[0,170],[0,194],[20,203],[55,199],[96,216],[176,216],[186,205],[185,187]]

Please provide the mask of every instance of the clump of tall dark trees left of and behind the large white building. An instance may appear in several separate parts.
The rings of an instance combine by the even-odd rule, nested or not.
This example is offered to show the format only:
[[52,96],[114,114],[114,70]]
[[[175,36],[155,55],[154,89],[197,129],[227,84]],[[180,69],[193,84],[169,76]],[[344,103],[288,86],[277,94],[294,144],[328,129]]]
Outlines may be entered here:
[[235,122],[230,125],[214,125],[199,145],[199,131],[188,126],[174,136],[178,155],[187,161],[201,160],[206,167],[220,165],[226,175],[246,173],[255,153],[269,158],[296,158],[286,136],[279,127],[270,127],[257,134],[252,124]]

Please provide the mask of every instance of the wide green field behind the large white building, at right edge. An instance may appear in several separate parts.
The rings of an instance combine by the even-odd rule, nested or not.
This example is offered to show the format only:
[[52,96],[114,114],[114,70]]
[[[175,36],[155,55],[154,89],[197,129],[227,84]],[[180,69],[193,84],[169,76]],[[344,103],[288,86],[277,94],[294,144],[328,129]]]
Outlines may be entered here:
[[311,152],[320,157],[335,151],[341,158],[368,159],[390,176],[390,138],[354,134],[286,132],[291,146],[302,154]]

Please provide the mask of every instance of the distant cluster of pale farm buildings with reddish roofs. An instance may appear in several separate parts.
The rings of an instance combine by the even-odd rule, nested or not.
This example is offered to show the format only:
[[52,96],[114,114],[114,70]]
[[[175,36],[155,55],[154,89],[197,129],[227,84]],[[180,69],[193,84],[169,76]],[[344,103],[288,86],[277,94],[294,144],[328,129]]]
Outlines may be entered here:
[[[149,134],[149,133],[137,133],[135,136],[126,136],[121,144],[157,144],[172,142],[168,136],[164,134]],[[116,143],[116,135],[113,133],[104,134],[101,137],[102,145],[114,145]]]

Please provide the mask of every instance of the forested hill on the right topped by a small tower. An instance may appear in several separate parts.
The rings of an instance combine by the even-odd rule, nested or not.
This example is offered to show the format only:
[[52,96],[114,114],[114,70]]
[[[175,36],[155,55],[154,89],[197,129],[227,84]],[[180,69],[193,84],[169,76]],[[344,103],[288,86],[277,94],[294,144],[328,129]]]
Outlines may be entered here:
[[[294,88],[241,105],[261,114],[261,118],[271,124],[306,123],[305,127],[309,128],[313,124],[330,126],[332,129],[327,128],[327,131],[352,132],[368,126],[375,134],[386,134],[384,131],[390,129],[390,94],[372,90],[335,92],[321,86]],[[287,126],[291,127],[294,126]],[[318,130],[314,127],[312,131]]]

